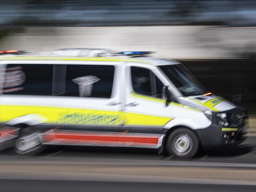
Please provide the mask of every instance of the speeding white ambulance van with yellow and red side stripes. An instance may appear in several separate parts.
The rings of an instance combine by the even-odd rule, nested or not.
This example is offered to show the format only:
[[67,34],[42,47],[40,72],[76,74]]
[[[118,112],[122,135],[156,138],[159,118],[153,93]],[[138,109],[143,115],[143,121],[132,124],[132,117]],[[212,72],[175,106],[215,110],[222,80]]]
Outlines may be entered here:
[[0,57],[2,146],[20,154],[74,145],[193,157],[243,141],[246,109],[208,92],[181,63],[148,52],[83,52]]

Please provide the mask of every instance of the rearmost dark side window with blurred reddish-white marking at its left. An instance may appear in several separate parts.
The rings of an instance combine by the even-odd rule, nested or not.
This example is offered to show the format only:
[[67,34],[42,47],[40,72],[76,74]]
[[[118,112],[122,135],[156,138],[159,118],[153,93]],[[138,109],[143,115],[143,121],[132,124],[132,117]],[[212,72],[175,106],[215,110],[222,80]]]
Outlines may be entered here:
[[52,95],[53,65],[9,64],[6,67],[3,92],[19,95]]

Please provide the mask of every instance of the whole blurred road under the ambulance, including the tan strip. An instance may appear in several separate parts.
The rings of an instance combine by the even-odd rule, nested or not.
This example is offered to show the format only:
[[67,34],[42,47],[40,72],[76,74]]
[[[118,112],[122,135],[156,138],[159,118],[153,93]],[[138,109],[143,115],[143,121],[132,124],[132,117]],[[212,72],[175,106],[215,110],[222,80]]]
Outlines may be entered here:
[[193,159],[155,150],[50,147],[36,156],[0,153],[1,191],[256,191],[256,135]]

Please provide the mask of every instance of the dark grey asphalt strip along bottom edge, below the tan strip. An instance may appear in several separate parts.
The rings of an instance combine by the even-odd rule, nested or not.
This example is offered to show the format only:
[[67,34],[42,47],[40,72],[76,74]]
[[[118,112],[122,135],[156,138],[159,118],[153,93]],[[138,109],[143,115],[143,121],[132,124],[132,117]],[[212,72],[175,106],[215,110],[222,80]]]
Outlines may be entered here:
[[[132,183],[132,182],[86,182],[86,181],[40,181],[40,180],[0,180],[0,186],[6,191],[19,192],[216,192],[247,191],[255,192],[255,186],[239,185],[195,185],[177,183]],[[19,186],[19,190],[17,190]],[[42,187],[43,186],[43,187]],[[2,190],[1,190],[2,191]]]

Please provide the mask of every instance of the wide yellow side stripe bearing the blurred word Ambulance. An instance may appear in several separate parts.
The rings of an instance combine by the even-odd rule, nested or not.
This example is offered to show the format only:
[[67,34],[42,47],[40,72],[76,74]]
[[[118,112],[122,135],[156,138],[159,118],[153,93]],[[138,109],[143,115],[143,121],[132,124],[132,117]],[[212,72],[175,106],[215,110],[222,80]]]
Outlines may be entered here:
[[[127,126],[164,126],[171,118],[145,114],[122,113],[117,111],[98,111],[89,109],[68,109],[58,107],[35,107],[1,105],[1,122],[8,122],[26,114],[39,114],[47,124],[84,124]],[[137,123],[139,122],[139,123]]]

